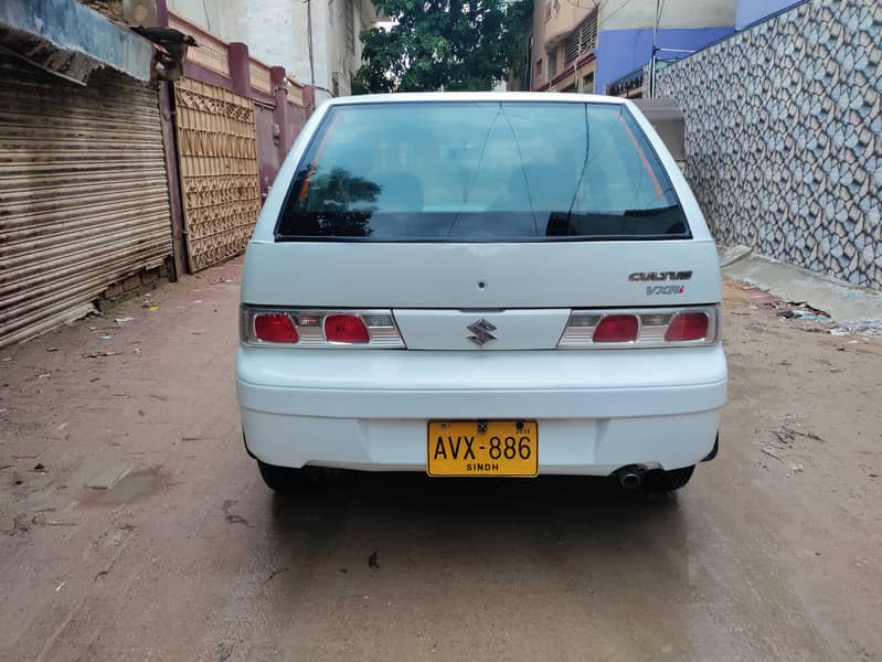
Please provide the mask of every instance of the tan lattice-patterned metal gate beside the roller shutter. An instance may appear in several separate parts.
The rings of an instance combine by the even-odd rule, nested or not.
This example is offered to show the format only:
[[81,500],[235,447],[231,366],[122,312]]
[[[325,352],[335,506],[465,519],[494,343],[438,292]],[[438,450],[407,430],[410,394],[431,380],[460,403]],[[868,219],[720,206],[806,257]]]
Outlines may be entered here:
[[261,212],[254,103],[206,83],[174,84],[187,253],[198,271],[242,253]]

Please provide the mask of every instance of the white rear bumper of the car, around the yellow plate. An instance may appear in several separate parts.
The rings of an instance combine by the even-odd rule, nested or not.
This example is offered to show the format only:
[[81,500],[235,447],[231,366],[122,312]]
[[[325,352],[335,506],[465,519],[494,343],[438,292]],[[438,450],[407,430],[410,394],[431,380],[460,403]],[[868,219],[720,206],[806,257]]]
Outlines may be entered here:
[[725,402],[720,346],[550,352],[242,348],[249,451],[278,466],[424,471],[429,419],[539,421],[541,473],[694,465]]

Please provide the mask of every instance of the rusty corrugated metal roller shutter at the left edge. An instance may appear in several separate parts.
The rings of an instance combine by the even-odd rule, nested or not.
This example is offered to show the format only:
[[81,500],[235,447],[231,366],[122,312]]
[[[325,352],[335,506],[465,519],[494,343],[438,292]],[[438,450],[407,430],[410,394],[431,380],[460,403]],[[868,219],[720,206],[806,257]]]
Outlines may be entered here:
[[157,94],[0,55],[0,346],[74,317],[171,255]]

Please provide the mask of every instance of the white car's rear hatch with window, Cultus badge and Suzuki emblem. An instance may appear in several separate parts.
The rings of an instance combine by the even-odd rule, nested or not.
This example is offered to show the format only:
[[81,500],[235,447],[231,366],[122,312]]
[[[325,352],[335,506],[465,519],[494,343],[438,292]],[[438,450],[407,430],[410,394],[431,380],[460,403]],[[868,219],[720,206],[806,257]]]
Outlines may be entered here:
[[[302,319],[389,312],[411,350],[587,346],[565,342],[573,324],[584,340],[619,313],[658,341],[721,285],[647,130],[620,104],[336,105],[265,210],[277,221],[248,247],[243,301]],[[653,310],[663,328],[647,327]]]

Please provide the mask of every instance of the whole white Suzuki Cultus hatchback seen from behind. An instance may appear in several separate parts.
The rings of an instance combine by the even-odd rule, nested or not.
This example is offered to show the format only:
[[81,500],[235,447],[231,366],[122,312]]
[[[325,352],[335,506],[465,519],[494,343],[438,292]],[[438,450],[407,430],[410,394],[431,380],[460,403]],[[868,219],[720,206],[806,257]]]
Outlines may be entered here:
[[333,99],[247,248],[245,445],[279,491],[312,467],[674,490],[716,453],[720,301],[701,210],[630,102]]

